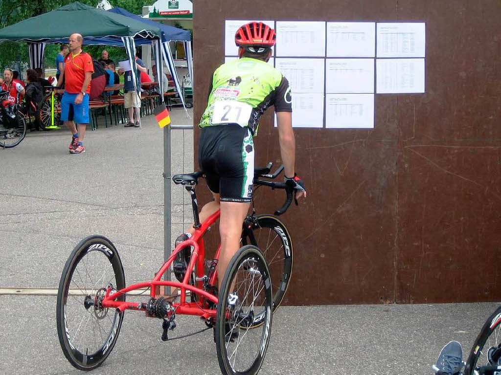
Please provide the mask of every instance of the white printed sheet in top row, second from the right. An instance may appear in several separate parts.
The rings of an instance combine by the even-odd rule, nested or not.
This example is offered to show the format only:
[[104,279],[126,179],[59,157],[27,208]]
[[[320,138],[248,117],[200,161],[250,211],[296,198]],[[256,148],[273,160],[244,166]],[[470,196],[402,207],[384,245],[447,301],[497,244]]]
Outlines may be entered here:
[[327,57],[374,57],[375,22],[328,22]]

